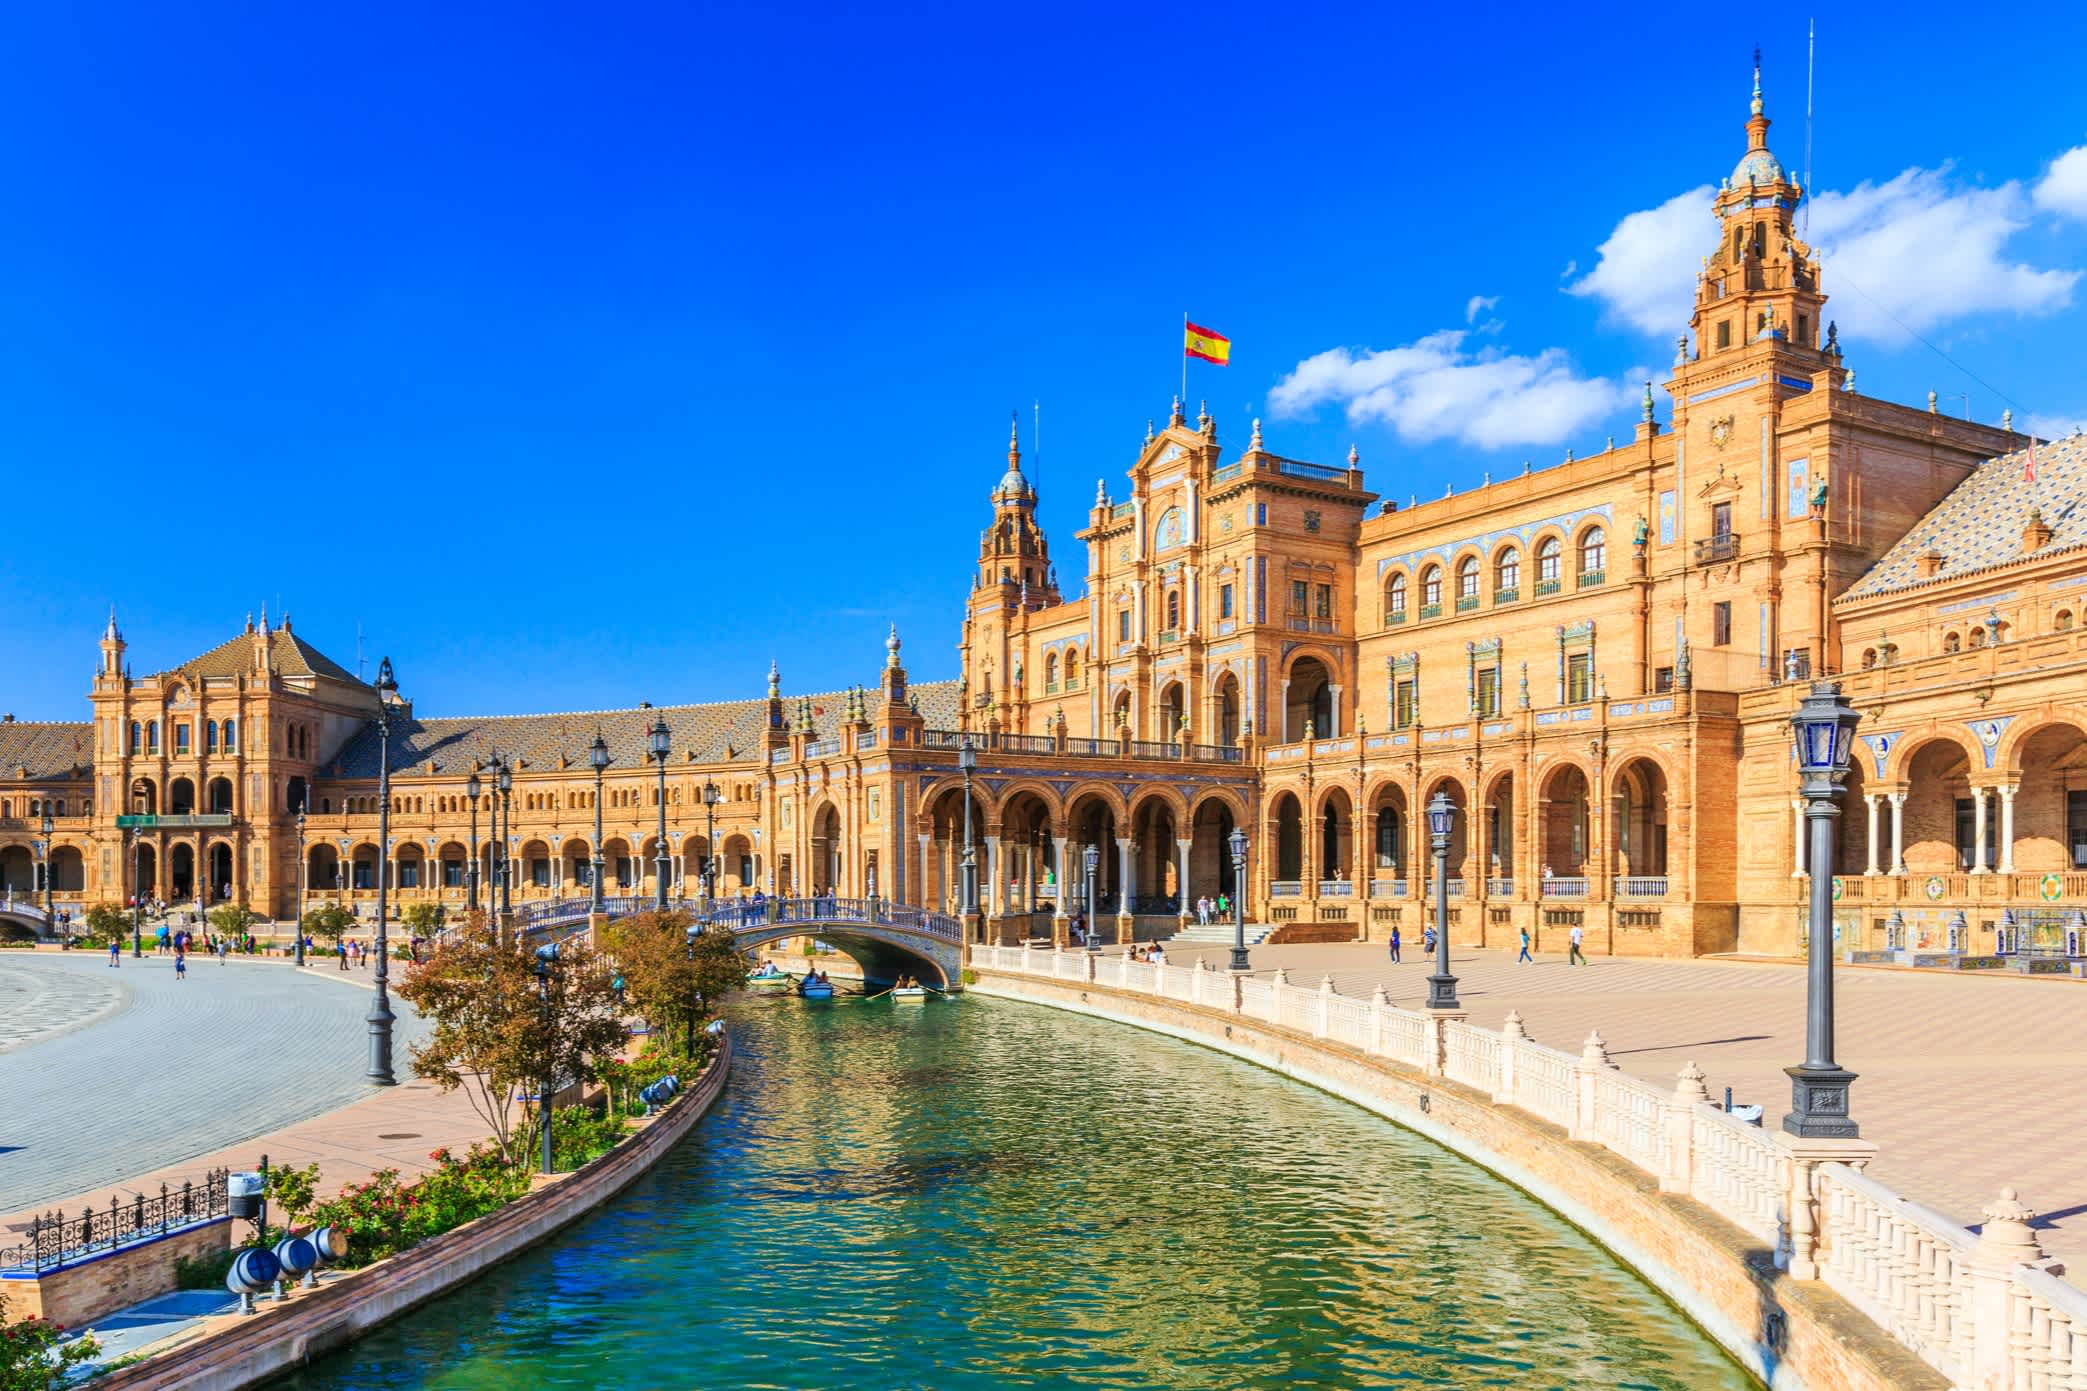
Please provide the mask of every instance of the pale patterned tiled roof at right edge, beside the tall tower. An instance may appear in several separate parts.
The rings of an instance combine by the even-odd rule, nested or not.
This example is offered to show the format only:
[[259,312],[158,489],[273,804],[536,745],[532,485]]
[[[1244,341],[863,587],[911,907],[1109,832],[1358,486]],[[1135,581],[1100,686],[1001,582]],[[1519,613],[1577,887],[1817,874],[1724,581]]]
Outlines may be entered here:
[[[2087,544],[2087,434],[2037,444],[2033,484],[2022,478],[2026,463],[2026,448],[1981,463],[1849,586],[1843,599],[1939,584],[2029,559],[2022,532],[2029,530],[2031,509],[2052,528],[2052,538],[2037,548],[2037,555]],[[1943,559],[1933,576],[1922,576],[1920,557],[1930,551]]]

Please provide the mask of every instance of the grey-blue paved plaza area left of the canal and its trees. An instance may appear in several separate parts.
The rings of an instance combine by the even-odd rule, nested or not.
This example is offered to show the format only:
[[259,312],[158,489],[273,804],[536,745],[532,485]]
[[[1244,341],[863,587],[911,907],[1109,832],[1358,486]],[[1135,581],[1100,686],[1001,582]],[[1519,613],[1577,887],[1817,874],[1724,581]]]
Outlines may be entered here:
[[[171,955],[125,953],[119,970],[92,951],[0,957],[0,1018],[17,1034],[0,1034],[0,1214],[394,1091],[363,1080],[367,1009],[369,972],[334,980],[286,961],[194,959],[177,982]],[[394,1068],[407,1080],[407,1047],[426,1030],[397,993],[392,1009]],[[411,1149],[426,1145],[415,1137]]]

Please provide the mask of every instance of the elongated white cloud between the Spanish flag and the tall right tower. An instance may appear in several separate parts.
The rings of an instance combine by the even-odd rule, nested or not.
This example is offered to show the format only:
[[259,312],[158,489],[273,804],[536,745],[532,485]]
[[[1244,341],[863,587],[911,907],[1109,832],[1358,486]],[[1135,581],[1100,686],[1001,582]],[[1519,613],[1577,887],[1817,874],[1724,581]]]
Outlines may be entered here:
[[1386,423],[1413,444],[1507,448],[1563,444],[1634,400],[1624,382],[1580,375],[1561,348],[1471,352],[1467,338],[1467,330],[1442,330],[1402,348],[1329,348],[1275,384],[1269,411],[1296,417],[1340,405],[1350,423]]

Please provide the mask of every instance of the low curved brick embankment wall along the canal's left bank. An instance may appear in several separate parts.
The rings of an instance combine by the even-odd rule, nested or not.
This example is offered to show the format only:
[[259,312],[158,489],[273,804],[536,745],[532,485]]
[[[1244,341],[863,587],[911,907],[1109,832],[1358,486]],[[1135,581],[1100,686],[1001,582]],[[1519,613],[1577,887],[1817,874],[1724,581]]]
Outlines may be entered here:
[[703,1118],[730,1070],[733,1041],[720,1034],[695,1082],[599,1160],[411,1251],[294,1291],[286,1303],[261,1301],[253,1316],[213,1320],[200,1337],[117,1368],[94,1385],[109,1391],[244,1391],[353,1343],[545,1241],[637,1182]]

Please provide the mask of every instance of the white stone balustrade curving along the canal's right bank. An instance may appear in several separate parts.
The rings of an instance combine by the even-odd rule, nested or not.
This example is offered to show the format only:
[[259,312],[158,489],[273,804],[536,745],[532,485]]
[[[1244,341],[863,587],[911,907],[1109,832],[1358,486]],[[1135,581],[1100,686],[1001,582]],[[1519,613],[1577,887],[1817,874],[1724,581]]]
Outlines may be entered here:
[[[1553,880],[1557,882],[1557,880]],[[1557,895],[1553,895],[1557,897]],[[1601,1145],[1774,1251],[1778,1270],[1822,1280],[1956,1385],[2087,1391],[2087,1291],[2060,1278],[2006,1189],[1983,1233],[1912,1203],[1847,1164],[1799,1157],[1780,1132],[1709,1097],[1688,1064],[1674,1089],[1622,1072],[1601,1032],[1578,1053],[1542,1047],[1509,1014],[1501,1030],[1371,999],[1240,976],[1204,961],[973,947],[973,966],[1175,999],[1327,1039],[1484,1093]],[[1791,1222],[1793,1195],[1803,1222]]]

